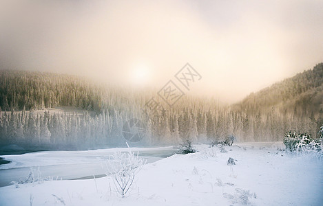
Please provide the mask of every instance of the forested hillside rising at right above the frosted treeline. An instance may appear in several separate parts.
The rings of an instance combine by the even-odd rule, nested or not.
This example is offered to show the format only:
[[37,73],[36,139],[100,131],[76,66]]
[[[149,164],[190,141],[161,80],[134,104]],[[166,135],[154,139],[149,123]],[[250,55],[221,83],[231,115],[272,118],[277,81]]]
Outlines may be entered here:
[[269,111],[272,107],[281,112],[297,111],[302,113],[319,113],[323,111],[323,63],[316,65],[292,78],[275,83],[251,93],[236,108],[254,112]]

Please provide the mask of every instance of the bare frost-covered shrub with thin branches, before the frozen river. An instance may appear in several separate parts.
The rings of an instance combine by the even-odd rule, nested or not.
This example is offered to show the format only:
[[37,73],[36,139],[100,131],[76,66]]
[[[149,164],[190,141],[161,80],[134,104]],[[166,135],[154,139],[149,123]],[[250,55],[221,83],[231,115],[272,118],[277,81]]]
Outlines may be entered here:
[[112,176],[116,190],[122,197],[127,194],[136,174],[146,163],[134,152],[115,152],[107,162],[107,170]]

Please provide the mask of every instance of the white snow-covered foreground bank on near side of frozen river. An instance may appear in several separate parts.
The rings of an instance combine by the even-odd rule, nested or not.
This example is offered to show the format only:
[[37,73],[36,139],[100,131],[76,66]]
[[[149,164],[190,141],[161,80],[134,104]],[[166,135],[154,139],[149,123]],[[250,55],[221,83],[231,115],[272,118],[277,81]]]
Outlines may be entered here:
[[[196,147],[194,154],[147,163],[125,198],[106,176],[0,187],[0,205],[323,205],[323,160],[273,143],[227,146],[226,153]],[[236,165],[227,165],[229,157]]]

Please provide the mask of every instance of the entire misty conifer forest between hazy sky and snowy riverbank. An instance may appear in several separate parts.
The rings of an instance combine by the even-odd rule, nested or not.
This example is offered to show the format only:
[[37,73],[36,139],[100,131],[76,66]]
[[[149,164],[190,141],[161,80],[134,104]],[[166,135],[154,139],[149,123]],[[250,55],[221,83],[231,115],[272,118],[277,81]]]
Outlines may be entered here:
[[[136,145],[181,141],[282,141],[288,130],[319,137],[323,124],[323,64],[253,93],[234,105],[185,95],[159,115],[143,114],[154,91],[96,84],[76,76],[0,71],[0,143],[46,148],[125,146],[125,121],[141,119],[145,137]],[[157,97],[158,99],[158,97]],[[72,106],[83,113],[50,113]],[[35,112],[44,109],[44,112]]]

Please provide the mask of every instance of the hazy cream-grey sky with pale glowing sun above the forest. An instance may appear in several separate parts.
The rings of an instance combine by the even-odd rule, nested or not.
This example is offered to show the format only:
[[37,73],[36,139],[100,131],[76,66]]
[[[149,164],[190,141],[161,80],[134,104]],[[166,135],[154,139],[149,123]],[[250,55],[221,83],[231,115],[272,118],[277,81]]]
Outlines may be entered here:
[[236,101],[323,61],[323,1],[0,0],[0,69],[163,87]]

